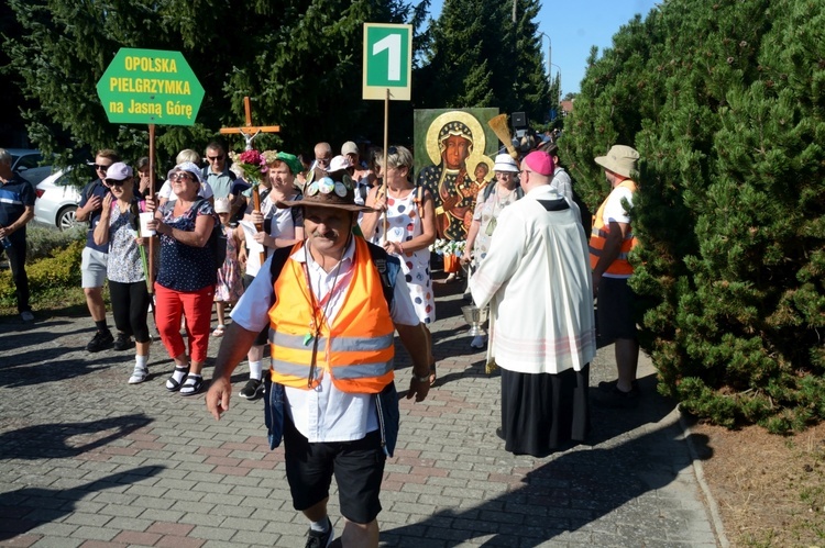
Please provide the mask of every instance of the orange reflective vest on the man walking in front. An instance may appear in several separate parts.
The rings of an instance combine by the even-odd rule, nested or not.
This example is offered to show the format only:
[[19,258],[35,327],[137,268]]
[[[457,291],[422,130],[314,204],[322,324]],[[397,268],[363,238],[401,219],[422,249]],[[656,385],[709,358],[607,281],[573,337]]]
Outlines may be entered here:
[[[316,388],[318,372],[309,379],[314,350],[316,371],[323,370],[342,392],[375,394],[393,382],[395,325],[367,244],[360,237],[354,242],[352,277],[332,324],[310,294],[302,262],[287,260],[274,281],[276,301],[270,309],[273,382]],[[296,244],[293,253],[302,245]],[[318,340],[312,325],[320,326]]]

